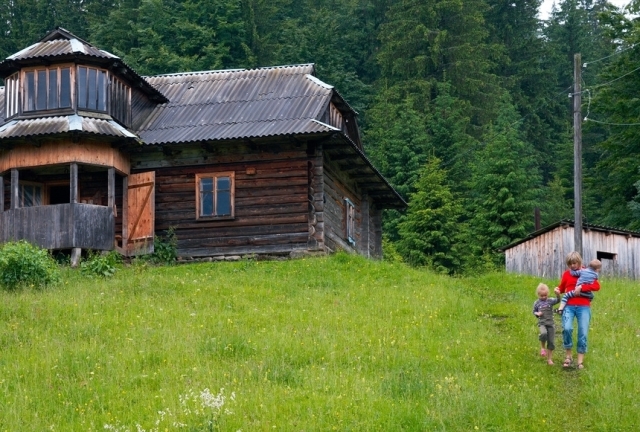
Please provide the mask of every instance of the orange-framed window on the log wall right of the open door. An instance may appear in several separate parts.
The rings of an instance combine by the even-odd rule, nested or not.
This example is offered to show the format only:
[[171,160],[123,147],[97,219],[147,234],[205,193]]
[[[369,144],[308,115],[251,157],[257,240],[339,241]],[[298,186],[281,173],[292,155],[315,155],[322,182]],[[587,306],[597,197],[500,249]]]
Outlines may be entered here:
[[234,216],[234,173],[196,174],[197,219]]

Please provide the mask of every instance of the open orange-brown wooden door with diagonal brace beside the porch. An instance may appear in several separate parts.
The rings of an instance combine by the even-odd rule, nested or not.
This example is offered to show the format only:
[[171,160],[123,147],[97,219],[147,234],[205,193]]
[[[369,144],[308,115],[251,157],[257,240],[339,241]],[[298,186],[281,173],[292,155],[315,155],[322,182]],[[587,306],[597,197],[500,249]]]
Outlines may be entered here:
[[123,221],[124,252],[127,256],[153,253],[155,232],[155,171],[130,174],[127,178],[126,221]]

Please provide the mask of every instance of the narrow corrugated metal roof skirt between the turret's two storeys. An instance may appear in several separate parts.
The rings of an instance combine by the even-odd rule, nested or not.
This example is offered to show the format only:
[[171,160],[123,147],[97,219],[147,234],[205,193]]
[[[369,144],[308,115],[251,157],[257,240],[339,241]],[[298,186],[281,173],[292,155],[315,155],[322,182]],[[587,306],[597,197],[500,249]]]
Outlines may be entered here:
[[0,139],[20,138],[35,135],[51,135],[65,132],[85,132],[103,136],[136,138],[113,120],[69,116],[42,117],[25,120],[11,120],[0,126]]

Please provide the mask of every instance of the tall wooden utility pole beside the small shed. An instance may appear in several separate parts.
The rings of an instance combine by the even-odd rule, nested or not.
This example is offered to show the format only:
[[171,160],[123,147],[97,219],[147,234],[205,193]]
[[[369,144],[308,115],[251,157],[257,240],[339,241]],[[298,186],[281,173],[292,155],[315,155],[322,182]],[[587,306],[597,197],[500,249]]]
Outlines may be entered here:
[[582,58],[573,55],[573,207],[574,250],[582,256]]

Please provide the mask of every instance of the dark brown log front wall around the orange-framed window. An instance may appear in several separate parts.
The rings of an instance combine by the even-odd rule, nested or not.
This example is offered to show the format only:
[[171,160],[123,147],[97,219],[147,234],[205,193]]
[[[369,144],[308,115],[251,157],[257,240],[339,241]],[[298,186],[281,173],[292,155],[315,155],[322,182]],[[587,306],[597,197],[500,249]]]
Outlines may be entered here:
[[[168,156],[167,156],[168,155]],[[288,253],[309,241],[309,156],[297,143],[183,145],[132,155],[156,171],[156,234],[174,227],[182,257]],[[196,219],[196,174],[233,172],[235,216]]]

